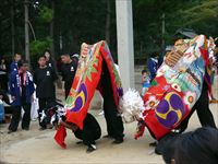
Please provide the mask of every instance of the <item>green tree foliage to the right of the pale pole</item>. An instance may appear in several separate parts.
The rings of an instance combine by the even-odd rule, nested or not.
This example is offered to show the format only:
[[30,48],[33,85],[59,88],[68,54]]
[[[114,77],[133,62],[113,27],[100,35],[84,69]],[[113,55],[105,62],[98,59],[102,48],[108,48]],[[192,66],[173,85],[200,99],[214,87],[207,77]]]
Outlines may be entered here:
[[[197,34],[218,36],[217,0],[133,0],[135,56],[147,58],[161,49],[161,39],[172,45],[178,28],[186,27]],[[161,15],[165,13],[165,35]]]

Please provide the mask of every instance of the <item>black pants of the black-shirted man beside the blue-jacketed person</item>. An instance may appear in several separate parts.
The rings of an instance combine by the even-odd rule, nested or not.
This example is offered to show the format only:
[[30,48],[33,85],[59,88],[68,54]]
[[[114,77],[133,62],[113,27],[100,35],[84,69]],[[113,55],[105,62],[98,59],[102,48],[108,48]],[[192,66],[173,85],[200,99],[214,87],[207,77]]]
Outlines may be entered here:
[[39,126],[43,128],[46,128],[46,125],[49,124],[50,120],[46,119],[46,122],[41,122],[40,118],[41,118],[41,113],[43,110],[45,112],[45,114],[47,113],[48,107],[50,106],[50,104],[53,104],[56,102],[55,98],[38,98],[38,121],[39,121]]

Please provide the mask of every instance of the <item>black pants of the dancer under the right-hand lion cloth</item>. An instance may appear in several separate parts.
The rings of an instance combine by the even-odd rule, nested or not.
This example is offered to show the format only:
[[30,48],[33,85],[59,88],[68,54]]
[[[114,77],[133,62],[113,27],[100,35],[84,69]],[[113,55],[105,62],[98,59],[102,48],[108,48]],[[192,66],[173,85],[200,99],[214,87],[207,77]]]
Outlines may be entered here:
[[207,84],[205,82],[203,83],[202,94],[193,106],[191,114],[180,125],[180,132],[183,132],[186,129],[190,117],[195,110],[197,112],[199,122],[203,127],[216,128],[213,114],[209,110],[209,98],[207,93]]

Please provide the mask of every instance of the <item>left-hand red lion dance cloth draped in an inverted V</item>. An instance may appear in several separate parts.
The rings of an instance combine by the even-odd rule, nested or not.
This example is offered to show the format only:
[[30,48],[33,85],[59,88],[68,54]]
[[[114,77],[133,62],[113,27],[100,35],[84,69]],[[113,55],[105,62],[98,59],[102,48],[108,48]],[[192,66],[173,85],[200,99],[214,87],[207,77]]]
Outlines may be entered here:
[[[99,81],[102,73],[102,62],[106,62],[109,71],[113,99],[117,106],[123,94],[121,79],[106,42],[88,45],[87,56],[80,57],[76,74],[64,106],[65,121],[75,124],[80,129],[83,129],[83,120],[86,117],[96,89],[100,90]],[[56,141],[63,148],[65,148],[65,129],[61,126],[55,137]]]

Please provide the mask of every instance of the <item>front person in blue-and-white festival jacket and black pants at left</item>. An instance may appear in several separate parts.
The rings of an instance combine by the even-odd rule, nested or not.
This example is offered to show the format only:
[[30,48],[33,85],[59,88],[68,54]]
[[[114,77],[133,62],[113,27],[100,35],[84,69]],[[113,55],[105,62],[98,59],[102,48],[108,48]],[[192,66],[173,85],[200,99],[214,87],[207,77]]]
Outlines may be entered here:
[[24,109],[24,115],[22,118],[22,129],[29,129],[31,102],[35,87],[33,82],[33,75],[31,74],[31,72],[27,71],[27,61],[20,60],[17,62],[19,70],[13,70],[10,74],[9,85],[12,98],[11,106],[13,112],[8,133],[17,130],[22,107]]

